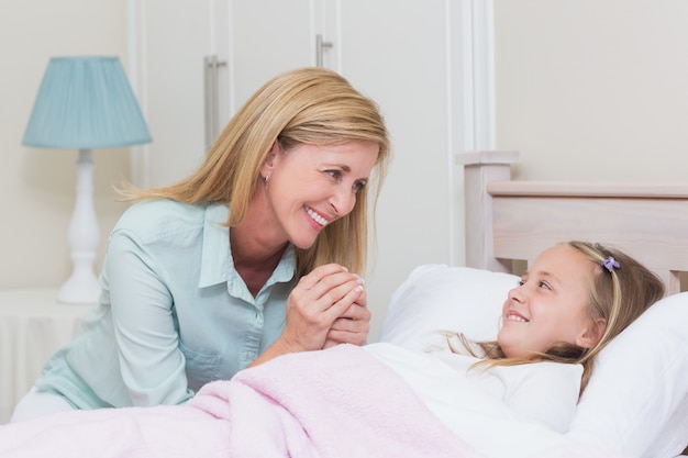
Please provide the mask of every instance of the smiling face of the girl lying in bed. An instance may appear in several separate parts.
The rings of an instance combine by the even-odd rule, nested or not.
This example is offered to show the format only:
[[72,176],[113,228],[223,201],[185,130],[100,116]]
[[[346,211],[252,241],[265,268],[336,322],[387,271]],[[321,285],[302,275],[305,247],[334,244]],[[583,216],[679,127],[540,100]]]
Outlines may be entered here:
[[529,358],[557,342],[592,347],[599,339],[599,326],[588,312],[593,269],[570,246],[543,252],[502,306],[497,340],[506,355]]

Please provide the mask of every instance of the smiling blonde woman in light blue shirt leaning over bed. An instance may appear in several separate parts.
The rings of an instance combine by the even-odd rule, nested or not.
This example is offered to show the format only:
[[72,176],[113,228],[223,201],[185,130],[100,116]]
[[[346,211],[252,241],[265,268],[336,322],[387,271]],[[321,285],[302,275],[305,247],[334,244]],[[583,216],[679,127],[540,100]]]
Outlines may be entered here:
[[256,358],[363,344],[367,185],[388,160],[377,105],[340,75],[268,81],[196,172],[126,190],[100,303],[12,421],[179,404]]

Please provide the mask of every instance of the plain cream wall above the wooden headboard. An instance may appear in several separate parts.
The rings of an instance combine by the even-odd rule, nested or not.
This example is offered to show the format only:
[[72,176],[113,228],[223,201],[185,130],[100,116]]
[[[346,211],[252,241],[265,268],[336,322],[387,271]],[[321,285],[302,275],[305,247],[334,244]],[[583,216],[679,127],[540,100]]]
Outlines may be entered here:
[[688,180],[688,2],[493,0],[496,143],[519,179]]

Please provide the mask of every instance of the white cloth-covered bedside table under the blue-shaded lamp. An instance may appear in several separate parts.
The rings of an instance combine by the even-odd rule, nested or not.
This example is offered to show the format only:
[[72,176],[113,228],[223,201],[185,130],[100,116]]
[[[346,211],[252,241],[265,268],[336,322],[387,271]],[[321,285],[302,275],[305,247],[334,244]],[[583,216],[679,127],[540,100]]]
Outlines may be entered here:
[[92,308],[56,298],[55,289],[0,291],[0,423],[10,420],[45,362],[71,340]]

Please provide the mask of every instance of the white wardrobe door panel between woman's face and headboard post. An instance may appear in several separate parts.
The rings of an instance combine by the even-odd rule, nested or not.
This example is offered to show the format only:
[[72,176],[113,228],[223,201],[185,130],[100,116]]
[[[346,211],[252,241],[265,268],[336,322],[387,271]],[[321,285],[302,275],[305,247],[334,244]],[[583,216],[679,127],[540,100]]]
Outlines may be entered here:
[[[336,0],[328,0],[336,3]],[[392,137],[393,163],[377,212],[377,258],[366,282],[376,310],[376,338],[395,288],[412,268],[451,264],[457,187],[453,157],[463,146],[462,48],[453,22],[460,2],[444,0],[346,0],[340,2],[339,70],[380,105]],[[454,11],[451,9],[454,8]],[[460,234],[458,234],[460,235]],[[370,244],[370,247],[375,245]]]

